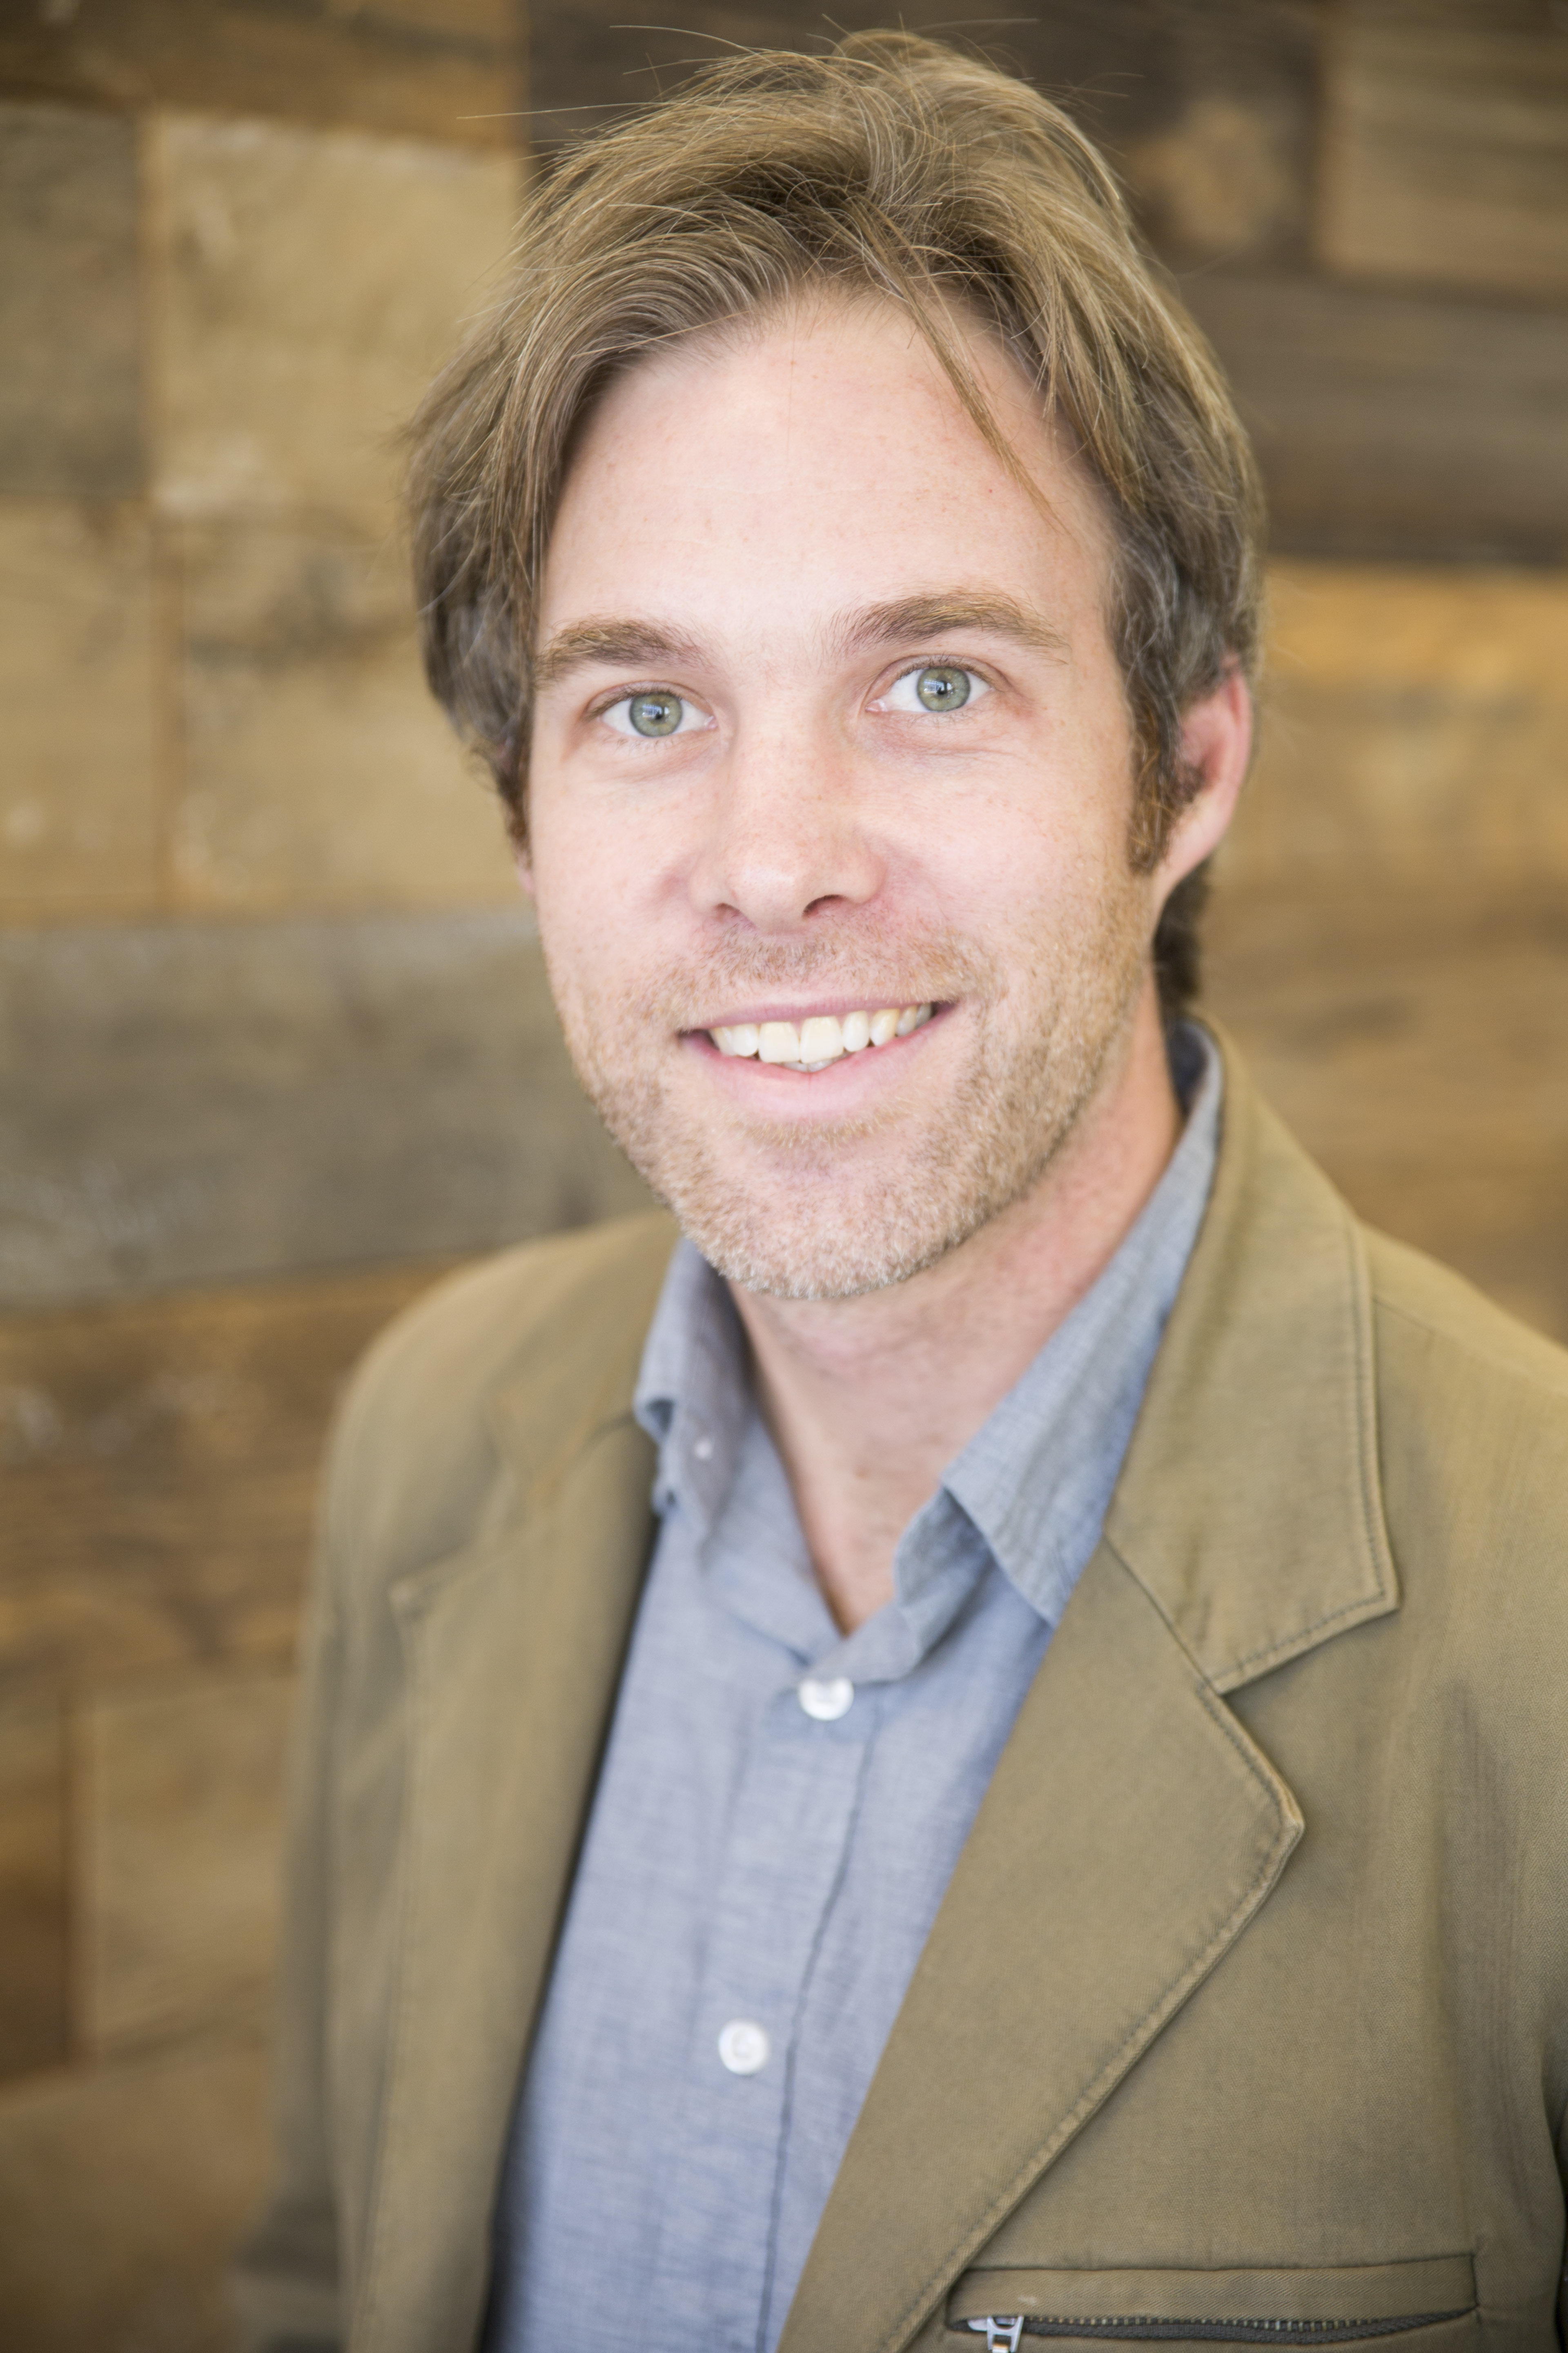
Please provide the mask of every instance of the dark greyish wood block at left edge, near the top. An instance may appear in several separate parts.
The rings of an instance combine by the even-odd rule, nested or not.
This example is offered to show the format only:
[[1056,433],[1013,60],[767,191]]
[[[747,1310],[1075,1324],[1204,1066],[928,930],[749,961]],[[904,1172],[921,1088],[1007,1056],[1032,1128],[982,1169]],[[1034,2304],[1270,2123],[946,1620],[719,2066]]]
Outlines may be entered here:
[[139,325],[132,125],[0,106],[0,489],[141,489]]

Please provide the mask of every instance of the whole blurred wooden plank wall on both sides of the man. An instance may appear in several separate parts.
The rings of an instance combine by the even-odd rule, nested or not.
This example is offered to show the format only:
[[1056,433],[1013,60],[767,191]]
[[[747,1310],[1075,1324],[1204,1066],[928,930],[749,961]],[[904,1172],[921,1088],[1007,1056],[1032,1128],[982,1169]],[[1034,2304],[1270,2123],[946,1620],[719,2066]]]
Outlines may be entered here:
[[[223,2344],[331,1395],[451,1259],[639,1198],[425,704],[395,518],[529,139],[827,31],[630,14],[0,7],[12,2353]],[[1208,1000],[1363,1214],[1568,1337],[1568,7],[943,21],[1107,144],[1269,478]]]

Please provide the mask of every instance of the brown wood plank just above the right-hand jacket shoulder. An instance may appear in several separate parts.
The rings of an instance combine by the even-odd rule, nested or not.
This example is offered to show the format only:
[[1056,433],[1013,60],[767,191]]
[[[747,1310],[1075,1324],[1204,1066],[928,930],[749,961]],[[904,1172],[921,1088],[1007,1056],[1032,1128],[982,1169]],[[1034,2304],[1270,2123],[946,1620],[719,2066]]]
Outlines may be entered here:
[[1568,892],[1220,887],[1206,1002],[1361,1217],[1568,1341]]

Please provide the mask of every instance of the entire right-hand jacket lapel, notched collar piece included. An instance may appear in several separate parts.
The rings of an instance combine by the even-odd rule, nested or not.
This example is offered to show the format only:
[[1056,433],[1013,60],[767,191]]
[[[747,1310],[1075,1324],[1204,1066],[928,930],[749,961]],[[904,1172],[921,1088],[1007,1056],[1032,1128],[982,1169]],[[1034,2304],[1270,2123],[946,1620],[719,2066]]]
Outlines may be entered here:
[[872,2080],[778,2353],[891,2353],[1267,1901],[1302,1817],[1225,1706],[1396,1607],[1349,1212],[1227,1054],[1199,1245]]

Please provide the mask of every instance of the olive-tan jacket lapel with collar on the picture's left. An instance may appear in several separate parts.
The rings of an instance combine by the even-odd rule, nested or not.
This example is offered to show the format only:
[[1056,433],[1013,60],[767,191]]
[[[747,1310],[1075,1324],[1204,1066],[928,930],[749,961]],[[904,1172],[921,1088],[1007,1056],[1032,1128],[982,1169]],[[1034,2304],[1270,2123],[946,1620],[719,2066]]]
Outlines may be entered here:
[[651,1544],[630,1414],[668,1226],[491,1405],[501,1525],[404,1579],[397,2009],[355,2353],[475,2341],[524,2052]]

